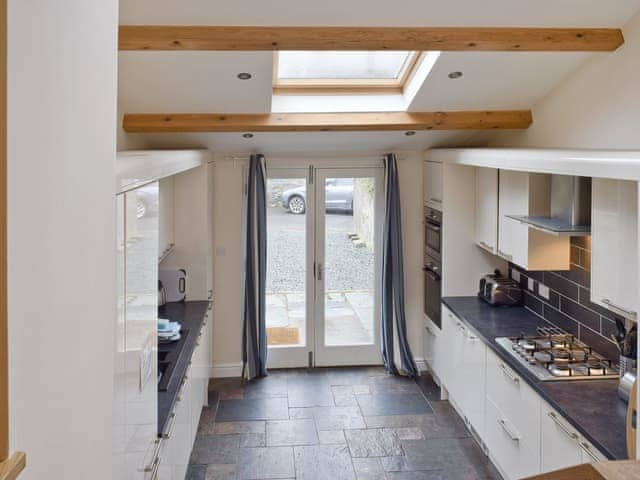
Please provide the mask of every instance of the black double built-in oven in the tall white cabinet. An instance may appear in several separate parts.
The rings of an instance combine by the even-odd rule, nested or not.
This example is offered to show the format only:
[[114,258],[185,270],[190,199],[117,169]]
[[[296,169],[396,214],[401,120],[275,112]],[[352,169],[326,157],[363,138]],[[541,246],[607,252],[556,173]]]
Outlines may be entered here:
[[424,314],[441,328],[442,212],[424,207]]

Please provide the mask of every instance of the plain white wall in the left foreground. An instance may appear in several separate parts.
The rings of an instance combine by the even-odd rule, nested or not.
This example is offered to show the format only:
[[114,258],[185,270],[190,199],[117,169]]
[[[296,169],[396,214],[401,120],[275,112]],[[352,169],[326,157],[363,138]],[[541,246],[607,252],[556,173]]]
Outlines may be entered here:
[[117,0],[9,0],[10,448],[111,478]]

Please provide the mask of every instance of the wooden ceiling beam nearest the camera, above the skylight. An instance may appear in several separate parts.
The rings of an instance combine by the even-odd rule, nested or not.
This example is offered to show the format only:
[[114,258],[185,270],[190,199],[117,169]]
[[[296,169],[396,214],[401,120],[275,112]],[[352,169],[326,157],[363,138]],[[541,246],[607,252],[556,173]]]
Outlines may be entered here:
[[601,52],[614,28],[120,26],[120,50]]

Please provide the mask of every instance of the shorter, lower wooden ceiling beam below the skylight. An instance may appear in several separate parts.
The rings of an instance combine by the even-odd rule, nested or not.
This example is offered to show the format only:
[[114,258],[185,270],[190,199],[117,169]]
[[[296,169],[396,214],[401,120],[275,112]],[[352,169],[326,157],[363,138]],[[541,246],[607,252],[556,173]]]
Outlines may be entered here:
[[377,113],[153,113],[126,114],[129,133],[355,132],[525,129],[529,110]]

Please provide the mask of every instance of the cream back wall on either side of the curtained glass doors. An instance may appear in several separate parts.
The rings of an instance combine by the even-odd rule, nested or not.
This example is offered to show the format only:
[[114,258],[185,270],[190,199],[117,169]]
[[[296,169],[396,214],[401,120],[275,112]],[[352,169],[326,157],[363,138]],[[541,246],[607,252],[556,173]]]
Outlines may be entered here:
[[[269,155],[266,155],[269,158]],[[335,157],[334,157],[335,158]],[[399,152],[408,336],[422,357],[422,157]],[[344,158],[348,164],[349,157]],[[214,178],[214,374],[238,375],[242,326],[242,172],[219,155]]]

